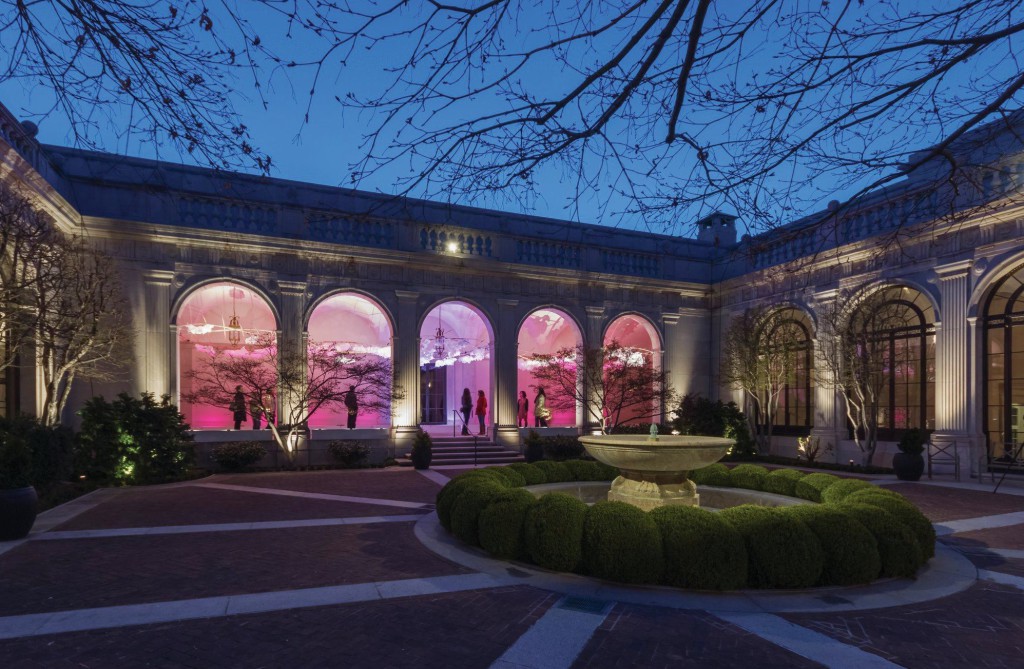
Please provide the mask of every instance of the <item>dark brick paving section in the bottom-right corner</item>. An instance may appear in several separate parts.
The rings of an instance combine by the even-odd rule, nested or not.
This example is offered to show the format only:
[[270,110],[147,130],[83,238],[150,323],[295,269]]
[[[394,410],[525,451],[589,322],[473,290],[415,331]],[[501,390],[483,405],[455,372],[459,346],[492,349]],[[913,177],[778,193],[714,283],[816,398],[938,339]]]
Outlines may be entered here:
[[979,583],[938,601],[786,619],[911,669],[1018,668],[1024,662],[1024,597]]

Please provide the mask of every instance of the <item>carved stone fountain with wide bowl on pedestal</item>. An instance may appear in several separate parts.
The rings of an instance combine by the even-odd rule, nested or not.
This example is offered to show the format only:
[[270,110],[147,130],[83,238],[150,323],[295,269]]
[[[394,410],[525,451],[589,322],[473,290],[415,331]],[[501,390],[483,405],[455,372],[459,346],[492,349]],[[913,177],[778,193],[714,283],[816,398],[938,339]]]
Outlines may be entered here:
[[658,506],[699,506],[700,496],[688,474],[715,464],[736,443],[720,436],[658,436],[651,425],[650,436],[642,434],[594,434],[581,436],[594,459],[615,467],[620,475],[611,484],[608,500],[626,502],[645,511]]

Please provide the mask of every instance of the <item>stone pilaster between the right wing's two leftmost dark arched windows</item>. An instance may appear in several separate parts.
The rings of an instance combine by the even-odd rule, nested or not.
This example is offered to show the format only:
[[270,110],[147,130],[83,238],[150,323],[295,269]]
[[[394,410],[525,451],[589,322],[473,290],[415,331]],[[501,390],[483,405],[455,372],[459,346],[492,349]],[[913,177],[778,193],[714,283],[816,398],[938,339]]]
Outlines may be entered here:
[[834,462],[839,462],[840,442],[847,436],[843,399],[827,363],[835,354],[836,333],[830,315],[836,307],[837,298],[838,292],[835,290],[814,296],[818,329],[811,339],[811,345],[814,346],[814,425],[811,427],[811,437],[818,440],[821,449],[830,450],[824,457]]

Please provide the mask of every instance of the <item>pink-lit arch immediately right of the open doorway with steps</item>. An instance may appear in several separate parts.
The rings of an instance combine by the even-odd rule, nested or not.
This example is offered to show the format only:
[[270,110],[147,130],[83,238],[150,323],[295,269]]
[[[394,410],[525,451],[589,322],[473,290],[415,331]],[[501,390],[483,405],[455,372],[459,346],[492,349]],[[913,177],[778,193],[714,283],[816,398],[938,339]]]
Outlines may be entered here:
[[566,353],[566,358],[571,361],[565,367],[567,374],[561,379],[566,387],[559,390],[557,387],[545,387],[548,408],[551,410],[551,418],[548,425],[552,427],[569,426],[579,424],[582,418],[582,407],[575,401],[580,396],[578,388],[579,378],[575,372],[575,349],[583,344],[583,333],[580,326],[565,311],[556,308],[542,308],[531,312],[523,321],[519,328],[519,351],[518,351],[518,372],[517,388],[518,392],[525,392],[529,401],[529,414],[526,425],[536,426],[534,410],[536,408],[538,387],[542,385],[534,376],[534,369],[540,364],[534,357],[559,356]]

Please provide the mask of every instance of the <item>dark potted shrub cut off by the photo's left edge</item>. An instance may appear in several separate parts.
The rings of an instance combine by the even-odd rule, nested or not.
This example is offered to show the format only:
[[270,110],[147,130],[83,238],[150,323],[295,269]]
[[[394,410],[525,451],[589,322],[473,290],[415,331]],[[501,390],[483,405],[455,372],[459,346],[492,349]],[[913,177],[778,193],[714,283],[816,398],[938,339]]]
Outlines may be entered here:
[[0,541],[28,536],[38,501],[28,440],[13,430],[0,430]]

